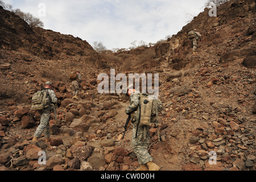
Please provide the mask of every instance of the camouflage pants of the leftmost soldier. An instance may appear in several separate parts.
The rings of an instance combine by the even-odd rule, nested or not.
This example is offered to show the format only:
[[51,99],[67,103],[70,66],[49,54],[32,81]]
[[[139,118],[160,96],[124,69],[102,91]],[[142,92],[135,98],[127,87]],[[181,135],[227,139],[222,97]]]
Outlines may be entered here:
[[51,117],[51,111],[44,110],[41,115],[40,125],[36,129],[34,137],[40,138],[42,133],[44,132],[44,137],[49,138],[51,133],[49,129],[49,118]]

